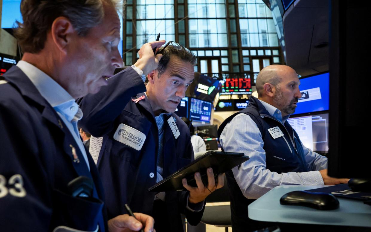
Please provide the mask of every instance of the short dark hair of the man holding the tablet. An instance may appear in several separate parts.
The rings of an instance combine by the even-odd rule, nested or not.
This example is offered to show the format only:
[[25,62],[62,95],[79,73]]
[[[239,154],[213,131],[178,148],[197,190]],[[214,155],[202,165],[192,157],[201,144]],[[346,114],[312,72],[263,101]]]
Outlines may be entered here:
[[165,72],[167,65],[170,61],[171,55],[174,55],[181,59],[182,61],[189,62],[191,65],[197,64],[196,56],[193,54],[193,52],[186,50],[184,48],[177,48],[172,45],[168,45],[165,50],[164,48],[160,48],[158,50],[158,53],[162,54],[162,58],[160,62],[158,62],[157,72],[158,77],[162,75],[162,73]]

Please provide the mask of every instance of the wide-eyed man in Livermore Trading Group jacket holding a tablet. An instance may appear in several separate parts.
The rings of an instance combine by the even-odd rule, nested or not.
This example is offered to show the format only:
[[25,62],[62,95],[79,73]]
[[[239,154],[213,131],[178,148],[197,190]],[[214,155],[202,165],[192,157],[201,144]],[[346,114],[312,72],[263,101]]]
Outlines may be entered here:
[[194,79],[196,57],[175,43],[159,52],[163,56],[157,70],[148,75],[146,92],[134,95],[126,104],[116,86],[130,80],[112,77],[112,83],[110,79],[98,94],[83,99],[86,117],[81,123],[93,136],[103,136],[97,166],[108,217],[126,213],[127,203],[132,210],[152,215],[157,231],[183,231],[180,213],[197,225],[204,199],[223,186],[223,177],[215,184],[210,168],[208,186],[196,173],[198,188],[185,181],[187,192],[148,192],[149,187],[194,160],[189,129],[174,111]]

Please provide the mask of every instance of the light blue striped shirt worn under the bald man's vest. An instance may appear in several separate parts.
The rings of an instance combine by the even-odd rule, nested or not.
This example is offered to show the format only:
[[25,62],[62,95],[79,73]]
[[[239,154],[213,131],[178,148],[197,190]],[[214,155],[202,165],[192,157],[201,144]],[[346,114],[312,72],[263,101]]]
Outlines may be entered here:
[[[262,102],[269,114],[282,122],[282,113],[276,107]],[[266,169],[264,141],[259,128],[249,115],[238,114],[224,128],[220,135],[220,144],[224,151],[240,152],[249,156],[241,167],[232,169],[234,178],[240,186],[243,195],[249,199],[257,199],[269,190],[279,185],[324,185],[318,170],[327,168],[327,158],[306,148],[303,144],[307,172],[276,173]]]

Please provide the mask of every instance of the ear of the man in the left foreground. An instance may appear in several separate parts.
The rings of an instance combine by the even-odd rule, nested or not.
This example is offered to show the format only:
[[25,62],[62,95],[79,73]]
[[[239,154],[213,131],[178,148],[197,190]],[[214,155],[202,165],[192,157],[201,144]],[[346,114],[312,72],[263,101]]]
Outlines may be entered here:
[[53,42],[63,53],[67,53],[67,45],[73,41],[76,31],[70,20],[66,17],[58,17],[54,20],[51,29]]

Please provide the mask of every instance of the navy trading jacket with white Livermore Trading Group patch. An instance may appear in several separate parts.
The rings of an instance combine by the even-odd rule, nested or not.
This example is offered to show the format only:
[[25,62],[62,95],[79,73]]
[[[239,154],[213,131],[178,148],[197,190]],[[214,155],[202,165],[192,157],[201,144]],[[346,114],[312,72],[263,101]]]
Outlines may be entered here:
[[[158,128],[155,117],[148,98],[142,97],[145,96],[143,92],[127,101],[117,87],[142,83],[139,77],[115,79],[115,83],[110,81],[98,94],[88,95],[81,102],[84,113],[82,127],[95,137],[103,136],[97,166],[106,194],[108,218],[127,213],[125,203],[133,212],[152,215],[157,193],[148,192],[148,188],[156,183],[157,173]],[[145,91],[145,85],[141,85]],[[140,97],[144,99],[138,101]],[[170,117],[175,119],[180,131],[177,139],[167,122]],[[122,134],[129,140],[119,141]],[[163,154],[164,178],[194,160],[189,128],[174,113],[164,118]],[[166,225],[168,231],[183,231],[180,213],[192,225],[200,222],[203,210],[188,210],[187,196],[186,191],[166,192],[165,204],[170,216]]]

